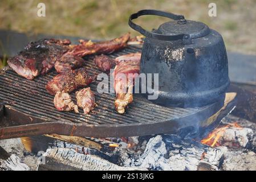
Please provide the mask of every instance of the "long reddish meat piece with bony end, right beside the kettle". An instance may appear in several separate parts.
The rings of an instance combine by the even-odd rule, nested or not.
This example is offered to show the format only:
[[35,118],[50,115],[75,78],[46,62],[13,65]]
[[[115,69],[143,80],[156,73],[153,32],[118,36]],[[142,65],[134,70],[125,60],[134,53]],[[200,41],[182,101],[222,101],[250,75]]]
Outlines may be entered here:
[[[116,67],[113,72],[116,92],[115,108],[120,114],[123,114],[125,107],[133,101],[133,80],[140,72],[140,57],[141,53],[131,53],[116,58]],[[119,73],[123,73],[126,80]],[[129,73],[133,73],[132,79],[129,79]]]

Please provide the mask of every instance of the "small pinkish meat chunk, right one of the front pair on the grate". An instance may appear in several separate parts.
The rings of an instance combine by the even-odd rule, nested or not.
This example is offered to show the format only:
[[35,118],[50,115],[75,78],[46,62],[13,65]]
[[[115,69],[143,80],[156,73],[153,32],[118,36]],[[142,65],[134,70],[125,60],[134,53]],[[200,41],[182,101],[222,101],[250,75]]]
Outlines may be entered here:
[[95,97],[90,88],[85,88],[76,92],[76,101],[79,107],[82,107],[85,114],[94,109]]

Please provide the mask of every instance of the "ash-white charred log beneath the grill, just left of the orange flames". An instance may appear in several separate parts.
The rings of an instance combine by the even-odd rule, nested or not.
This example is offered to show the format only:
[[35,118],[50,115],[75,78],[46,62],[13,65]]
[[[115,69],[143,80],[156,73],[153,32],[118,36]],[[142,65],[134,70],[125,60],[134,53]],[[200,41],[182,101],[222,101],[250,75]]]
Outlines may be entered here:
[[201,162],[221,167],[225,147],[211,148],[193,140],[181,140],[176,135],[157,135],[147,143],[147,148],[135,166],[152,170],[196,171]]

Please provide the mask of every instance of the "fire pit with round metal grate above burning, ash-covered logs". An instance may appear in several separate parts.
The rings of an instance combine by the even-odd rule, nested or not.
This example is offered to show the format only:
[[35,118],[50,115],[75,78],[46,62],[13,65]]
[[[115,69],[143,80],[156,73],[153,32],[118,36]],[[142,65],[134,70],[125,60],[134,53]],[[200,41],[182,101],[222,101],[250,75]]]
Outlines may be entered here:
[[[129,46],[110,56],[137,51]],[[86,68],[99,73],[90,60]],[[113,94],[96,92],[95,112],[79,115],[55,110],[53,96],[44,89],[55,75],[29,81],[11,70],[1,73],[0,146],[5,149],[0,147],[0,169],[255,169],[256,125],[226,117],[235,107],[236,93],[226,93],[224,102],[185,109],[159,106],[136,95],[120,115]]]

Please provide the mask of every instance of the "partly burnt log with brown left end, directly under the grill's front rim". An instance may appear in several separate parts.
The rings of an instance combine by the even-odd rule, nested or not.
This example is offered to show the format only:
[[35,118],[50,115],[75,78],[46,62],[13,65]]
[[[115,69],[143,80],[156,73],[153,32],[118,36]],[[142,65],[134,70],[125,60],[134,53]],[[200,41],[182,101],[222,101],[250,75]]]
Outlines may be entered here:
[[48,148],[68,148],[80,154],[97,155],[100,158],[117,163],[119,160],[118,151],[109,147],[108,140],[91,139],[84,137],[70,137],[64,135],[42,135],[35,137],[23,137],[22,143],[25,150],[37,154],[38,151],[46,151]]

